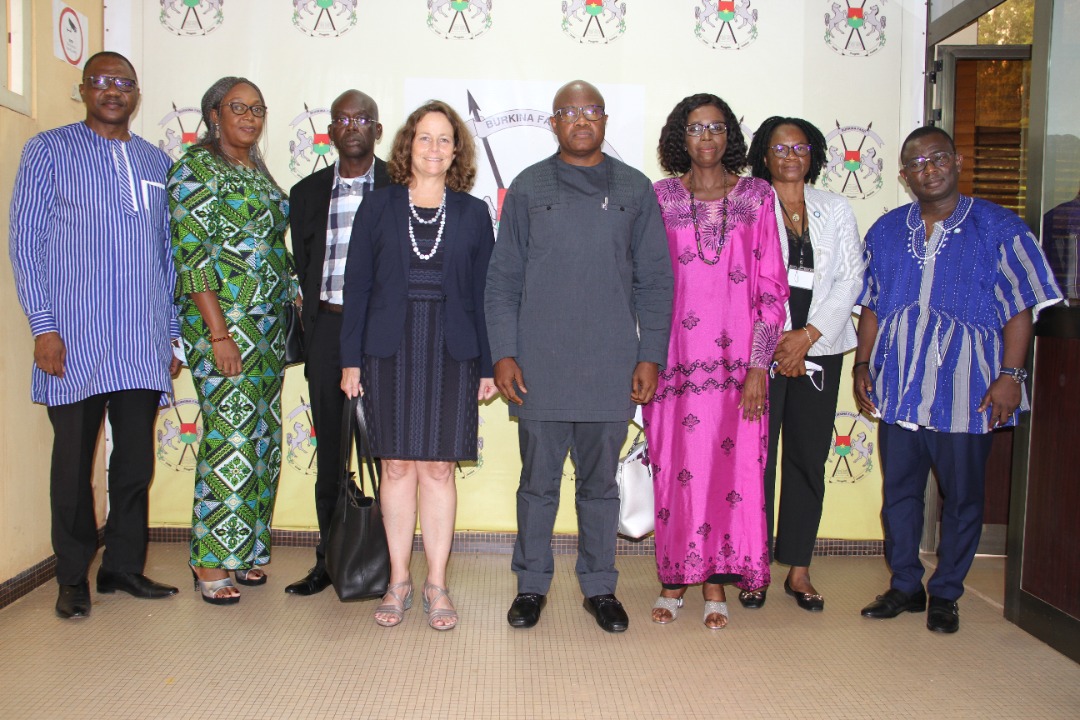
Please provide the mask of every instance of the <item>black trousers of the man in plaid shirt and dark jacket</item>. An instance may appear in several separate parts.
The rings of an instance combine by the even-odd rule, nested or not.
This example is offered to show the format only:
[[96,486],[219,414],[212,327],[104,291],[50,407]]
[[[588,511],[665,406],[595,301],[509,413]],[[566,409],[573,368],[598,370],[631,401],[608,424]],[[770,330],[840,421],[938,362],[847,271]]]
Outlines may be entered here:
[[[341,392],[341,315],[320,312],[315,325],[305,338],[308,357],[305,375],[311,393],[311,422],[318,438],[315,473],[315,516],[319,518],[319,544],[315,566],[325,568],[326,535],[337,506],[341,474],[341,412],[346,396]],[[359,449],[357,449],[359,451]],[[376,462],[376,467],[379,463]]]

